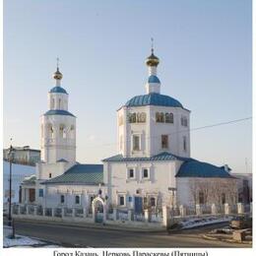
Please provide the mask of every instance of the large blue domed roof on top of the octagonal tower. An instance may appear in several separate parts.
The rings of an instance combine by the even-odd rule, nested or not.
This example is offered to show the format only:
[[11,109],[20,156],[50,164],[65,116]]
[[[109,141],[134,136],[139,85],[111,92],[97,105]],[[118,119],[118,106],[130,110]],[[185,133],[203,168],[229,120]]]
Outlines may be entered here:
[[125,106],[142,105],[160,105],[184,108],[183,105],[177,99],[171,96],[164,96],[156,93],[151,93],[143,96],[134,96],[125,103]]

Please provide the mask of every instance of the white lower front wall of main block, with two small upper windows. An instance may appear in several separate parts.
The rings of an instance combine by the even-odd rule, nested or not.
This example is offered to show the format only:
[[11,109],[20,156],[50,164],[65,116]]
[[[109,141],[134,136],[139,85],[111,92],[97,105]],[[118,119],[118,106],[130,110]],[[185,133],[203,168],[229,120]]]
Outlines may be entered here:
[[[127,176],[129,168],[134,169],[134,178]],[[149,169],[149,178],[143,178],[144,168]],[[160,196],[162,204],[169,204],[171,196],[169,188],[176,187],[176,161],[108,162],[104,165],[104,171],[108,172],[105,177],[108,177],[108,193],[111,194],[109,197],[114,205],[118,205],[118,195],[125,196],[124,207],[133,207],[134,199],[132,204],[129,204],[128,199],[134,196]]]

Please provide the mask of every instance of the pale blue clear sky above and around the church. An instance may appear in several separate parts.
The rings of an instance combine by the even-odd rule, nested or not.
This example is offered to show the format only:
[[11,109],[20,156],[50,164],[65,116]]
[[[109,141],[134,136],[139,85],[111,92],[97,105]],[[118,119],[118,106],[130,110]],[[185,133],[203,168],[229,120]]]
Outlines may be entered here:
[[[77,160],[117,154],[116,110],[146,94],[151,37],[161,94],[191,110],[192,129],[252,116],[251,22],[249,0],[5,0],[4,148],[39,149],[59,57]],[[251,120],[191,131],[192,158],[235,172],[251,170],[251,144]]]

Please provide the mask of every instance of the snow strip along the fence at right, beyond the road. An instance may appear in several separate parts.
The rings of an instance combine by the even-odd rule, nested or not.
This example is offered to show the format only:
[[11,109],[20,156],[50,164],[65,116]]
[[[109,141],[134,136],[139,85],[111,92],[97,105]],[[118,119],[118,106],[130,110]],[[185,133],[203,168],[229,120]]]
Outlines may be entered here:
[[208,217],[208,218],[195,218],[195,219],[187,219],[182,221],[180,224],[182,225],[182,229],[193,228],[197,226],[207,225],[207,224],[221,224],[229,222],[231,217]]

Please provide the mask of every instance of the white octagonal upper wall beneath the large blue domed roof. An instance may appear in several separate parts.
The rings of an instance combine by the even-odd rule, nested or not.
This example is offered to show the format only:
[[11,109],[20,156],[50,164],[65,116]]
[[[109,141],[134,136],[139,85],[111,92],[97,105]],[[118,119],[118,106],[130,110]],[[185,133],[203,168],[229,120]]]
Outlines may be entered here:
[[[129,113],[145,112],[145,123],[129,123]],[[173,123],[156,122],[156,113],[173,113]],[[151,157],[161,152],[169,152],[180,157],[190,157],[190,136],[189,136],[189,114],[190,112],[180,107],[164,107],[146,105],[138,107],[122,107],[117,112],[118,126],[118,152],[124,157]],[[120,117],[122,122],[120,125]],[[187,118],[187,126],[181,125],[181,117]],[[126,118],[125,118],[126,117]],[[132,136],[140,136],[140,150],[133,151]],[[168,148],[161,148],[161,135],[168,136]],[[186,140],[184,150],[183,137]]]

